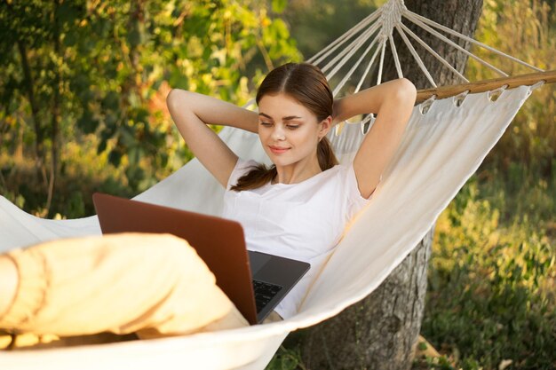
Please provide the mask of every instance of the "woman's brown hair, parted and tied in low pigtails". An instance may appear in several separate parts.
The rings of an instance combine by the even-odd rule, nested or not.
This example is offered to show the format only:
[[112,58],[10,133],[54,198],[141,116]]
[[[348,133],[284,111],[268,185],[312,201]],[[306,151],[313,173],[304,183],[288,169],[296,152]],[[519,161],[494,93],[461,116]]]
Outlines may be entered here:
[[[281,92],[295,98],[313,112],[318,122],[322,122],[332,115],[334,98],[329,83],[319,67],[308,63],[287,63],[274,68],[266,75],[265,80],[258,88],[257,104],[265,95]],[[338,164],[330,141],[326,137],[323,137],[317,146],[317,158],[323,171]],[[265,164],[258,164],[240,177],[237,185],[233,185],[231,190],[241,192],[242,190],[257,189],[272,181],[276,174],[275,165],[267,169]]]

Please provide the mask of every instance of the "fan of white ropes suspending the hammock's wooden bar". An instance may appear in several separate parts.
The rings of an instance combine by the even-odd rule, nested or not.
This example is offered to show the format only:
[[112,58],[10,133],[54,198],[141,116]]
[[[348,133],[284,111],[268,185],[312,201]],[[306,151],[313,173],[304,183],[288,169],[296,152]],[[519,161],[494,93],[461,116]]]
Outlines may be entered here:
[[[344,35],[341,35],[334,42],[330,43],[328,47],[316,53],[313,58],[308,59],[308,62],[313,63],[318,67],[321,67],[322,72],[327,76],[327,79],[329,81],[332,81],[332,78],[338,74],[338,72],[342,69],[342,67],[346,66],[346,64],[349,63],[349,65],[351,66],[350,69],[346,72],[346,74],[339,81],[339,83],[336,84],[334,90],[332,91],[334,97],[337,97],[342,91],[345,90],[346,83],[352,79],[355,72],[361,66],[361,63],[363,63],[363,60],[365,60],[369,56],[369,53],[371,52],[372,52],[372,56],[370,57],[369,63],[367,63],[367,66],[365,67],[363,73],[361,74],[361,77],[358,79],[355,90],[353,92],[358,92],[361,90],[363,83],[368,78],[371,68],[374,67],[375,61],[377,60],[378,52],[380,52],[380,59],[378,60],[378,66],[377,66],[377,85],[382,83],[386,44],[390,45],[389,49],[393,56],[393,62],[398,77],[400,78],[403,77],[400,58],[398,56],[398,51],[393,41],[394,29],[401,36],[401,40],[408,48],[409,53],[411,54],[413,59],[415,59],[417,66],[419,67],[421,72],[425,75],[426,80],[433,86],[433,90],[425,90],[427,91],[426,94],[423,94],[424,92],[423,90],[419,91],[419,94],[417,95],[417,103],[420,103],[428,98],[431,98],[433,95],[438,95],[435,93],[435,90],[439,89],[439,87],[438,84],[434,81],[433,76],[425,67],[425,63],[423,62],[423,59],[418,55],[408,35],[411,36],[411,39],[413,39],[414,42],[421,45],[425,49],[425,51],[432,54],[435,59],[438,59],[442,65],[448,67],[449,70],[457,76],[457,78],[463,81],[463,84],[453,85],[453,86],[462,86],[462,87],[465,86],[465,89],[464,90],[461,90],[461,88],[457,89],[455,90],[454,94],[451,96],[461,94],[463,91],[467,91],[467,90],[469,90],[468,92],[478,91],[476,90],[477,86],[473,84],[470,85],[469,80],[466,79],[464,75],[462,75],[459,71],[457,71],[455,67],[451,66],[446,59],[441,57],[441,55],[438,52],[434,51],[433,48],[429,46],[427,43],[425,43],[425,41],[422,38],[417,36],[406,25],[404,25],[402,23],[403,18],[409,20],[409,22],[416,25],[417,27],[424,29],[430,35],[437,37],[442,42],[447,43],[449,46],[456,49],[457,51],[464,52],[465,55],[467,55],[468,57],[476,60],[477,62],[481,63],[482,66],[487,67],[488,69],[494,71],[497,75],[501,75],[504,78],[513,79],[515,77],[509,76],[500,68],[493,66],[492,64],[488,63],[484,59],[481,59],[478,56],[474,55],[472,52],[466,51],[465,48],[458,45],[457,43],[454,43],[445,35],[442,35],[437,29],[444,31],[449,35],[457,36],[457,38],[461,40],[464,40],[469,43],[473,43],[474,45],[477,45],[478,47],[491,51],[500,57],[509,59],[514,63],[518,63],[521,66],[531,68],[534,71],[536,71],[536,73],[542,74],[542,75],[529,75],[529,77],[533,77],[533,76],[539,78],[542,77],[542,81],[544,81],[545,83],[553,82],[552,81],[553,75],[551,72],[547,73],[539,67],[532,66],[527,62],[524,62],[520,59],[505,54],[502,51],[497,51],[495,48],[492,48],[484,43],[478,42],[466,35],[462,35],[450,28],[442,26],[441,24],[434,22],[433,20],[428,20],[425,17],[415,12],[410,12],[405,6],[403,0],[390,0],[384,6],[377,9],[377,11],[372,12],[368,17],[361,20],[361,22],[359,22],[354,28],[348,30],[346,33],[344,33]],[[367,44],[369,39],[371,39],[371,41],[369,44]],[[364,50],[363,47],[365,47]],[[339,48],[341,48],[340,51],[332,59],[330,59],[330,61],[327,62],[327,59],[330,57],[330,55],[335,51],[338,51]],[[356,60],[351,61],[353,59],[353,56],[355,56],[361,50],[363,50],[361,52],[361,55],[357,56]],[[523,81],[524,83],[526,82],[525,80],[520,80],[520,81]],[[537,79],[535,81],[527,81],[527,82],[528,83],[530,82],[529,84],[532,84],[538,81],[541,81],[541,79]],[[508,86],[512,86],[512,87],[518,86],[517,84],[511,82],[512,80],[507,80],[507,81],[504,80],[504,83],[507,83]],[[489,87],[491,89],[497,89],[500,86],[502,86],[502,84],[497,83],[496,85],[491,85]],[[442,98],[447,97],[445,91],[443,92],[441,97]],[[373,114],[366,114],[363,115],[360,122],[353,122],[353,123],[360,124],[361,132],[364,133],[369,129],[368,124],[369,123],[372,124],[373,118],[374,118]],[[339,135],[341,133],[345,124],[346,122],[342,122],[335,127],[334,132],[336,135]]]

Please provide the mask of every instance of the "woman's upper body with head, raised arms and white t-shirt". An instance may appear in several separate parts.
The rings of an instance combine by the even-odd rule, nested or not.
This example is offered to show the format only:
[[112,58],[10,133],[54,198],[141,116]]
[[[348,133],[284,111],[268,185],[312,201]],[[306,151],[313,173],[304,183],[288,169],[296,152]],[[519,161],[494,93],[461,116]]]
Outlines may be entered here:
[[[276,308],[294,315],[306,290],[350,219],[375,191],[400,144],[416,99],[406,79],[383,83],[334,101],[326,77],[310,64],[288,63],[258,89],[258,113],[189,91],[167,98],[187,146],[226,187],[222,216],[239,221],[247,248],[311,264]],[[326,134],[338,122],[375,113],[377,120],[353,163],[338,165]],[[258,133],[274,165],[245,161],[206,123]]]

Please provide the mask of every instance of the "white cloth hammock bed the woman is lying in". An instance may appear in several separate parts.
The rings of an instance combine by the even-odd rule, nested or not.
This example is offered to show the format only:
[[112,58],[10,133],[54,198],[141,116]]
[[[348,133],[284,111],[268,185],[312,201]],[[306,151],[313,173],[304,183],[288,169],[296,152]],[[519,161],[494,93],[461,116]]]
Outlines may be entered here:
[[[392,4],[402,2],[391,1],[385,7]],[[349,231],[314,281],[300,311],[291,319],[152,341],[4,352],[0,354],[0,366],[263,369],[291,331],[329,319],[378,287],[423,239],[533,89],[520,86],[503,90],[494,102],[489,92],[483,92],[468,94],[461,105],[456,104],[457,98],[443,98],[416,106],[374,200],[348,226]],[[269,162],[257,135],[226,127],[219,136],[240,157]],[[353,160],[362,138],[355,124],[346,125],[339,136],[330,133],[341,162]],[[218,215],[222,195],[218,182],[199,161],[192,160],[136,199]],[[44,240],[99,233],[96,216],[45,220],[28,215],[0,197],[0,252]]]

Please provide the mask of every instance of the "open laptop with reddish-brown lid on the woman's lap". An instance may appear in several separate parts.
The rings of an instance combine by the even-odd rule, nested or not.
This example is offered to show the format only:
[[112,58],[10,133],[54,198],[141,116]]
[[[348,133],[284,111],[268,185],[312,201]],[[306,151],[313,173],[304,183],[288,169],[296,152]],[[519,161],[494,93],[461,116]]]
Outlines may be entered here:
[[242,225],[226,218],[103,193],[94,193],[92,200],[103,233],[167,232],[187,240],[251,325],[262,322],[310,267],[248,251]]

